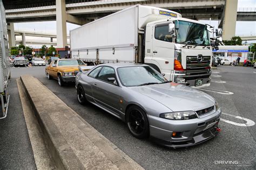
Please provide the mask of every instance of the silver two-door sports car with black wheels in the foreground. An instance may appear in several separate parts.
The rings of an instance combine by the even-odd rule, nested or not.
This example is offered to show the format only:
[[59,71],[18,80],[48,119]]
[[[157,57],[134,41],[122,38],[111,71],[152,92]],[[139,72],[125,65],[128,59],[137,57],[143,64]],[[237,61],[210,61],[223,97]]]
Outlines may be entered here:
[[169,147],[215,137],[221,110],[202,91],[167,81],[150,66],[109,63],[76,76],[79,103],[91,102],[126,122],[136,138]]

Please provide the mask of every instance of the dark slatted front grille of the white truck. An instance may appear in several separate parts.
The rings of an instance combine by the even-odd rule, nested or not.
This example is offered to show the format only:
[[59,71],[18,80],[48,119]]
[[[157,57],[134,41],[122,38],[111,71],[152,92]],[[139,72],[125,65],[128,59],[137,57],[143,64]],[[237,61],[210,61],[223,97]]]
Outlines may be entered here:
[[210,66],[211,56],[203,56],[201,61],[198,60],[198,56],[187,56],[186,58],[186,70],[202,70]]

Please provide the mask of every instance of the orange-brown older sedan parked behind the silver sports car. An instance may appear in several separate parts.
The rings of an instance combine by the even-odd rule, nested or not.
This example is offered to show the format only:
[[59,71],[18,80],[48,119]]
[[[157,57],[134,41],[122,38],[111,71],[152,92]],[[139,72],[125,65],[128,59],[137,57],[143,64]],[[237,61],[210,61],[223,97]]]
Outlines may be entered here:
[[79,59],[58,59],[53,60],[48,67],[45,68],[45,74],[48,79],[58,80],[59,86],[63,86],[65,82],[75,82],[75,77],[79,72],[78,66],[86,66]]

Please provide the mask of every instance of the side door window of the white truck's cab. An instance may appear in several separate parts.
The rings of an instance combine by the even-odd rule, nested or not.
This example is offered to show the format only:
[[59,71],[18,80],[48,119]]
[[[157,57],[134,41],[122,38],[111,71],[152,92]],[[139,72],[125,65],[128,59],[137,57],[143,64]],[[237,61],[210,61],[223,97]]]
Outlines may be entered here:
[[154,29],[154,38],[161,41],[172,42],[172,36],[169,33],[168,25],[156,26]]

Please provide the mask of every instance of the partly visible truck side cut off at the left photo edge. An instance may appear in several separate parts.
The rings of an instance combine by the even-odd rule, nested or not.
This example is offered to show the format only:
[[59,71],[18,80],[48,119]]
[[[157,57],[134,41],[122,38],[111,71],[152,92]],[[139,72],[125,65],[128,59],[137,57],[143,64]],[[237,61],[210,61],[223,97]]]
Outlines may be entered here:
[[2,111],[0,111],[0,119],[3,119],[7,115],[9,104],[8,80],[10,78],[10,60],[7,40],[7,24],[2,0],[0,0],[0,10],[0,104],[2,108]]

